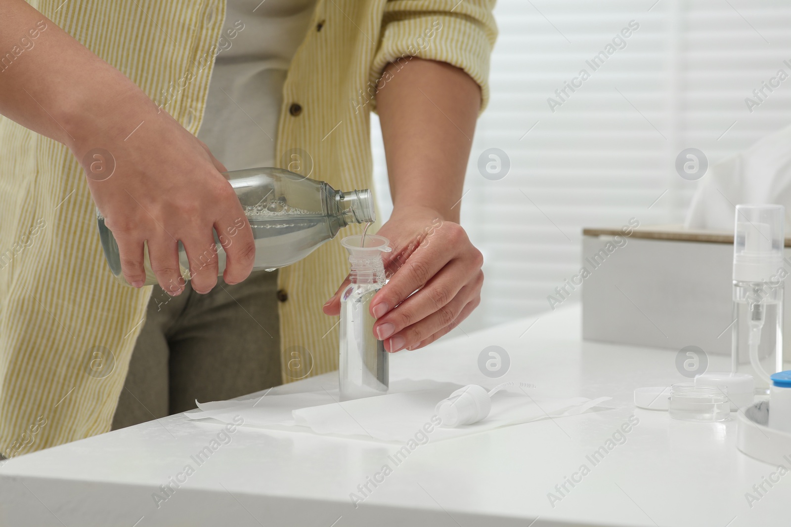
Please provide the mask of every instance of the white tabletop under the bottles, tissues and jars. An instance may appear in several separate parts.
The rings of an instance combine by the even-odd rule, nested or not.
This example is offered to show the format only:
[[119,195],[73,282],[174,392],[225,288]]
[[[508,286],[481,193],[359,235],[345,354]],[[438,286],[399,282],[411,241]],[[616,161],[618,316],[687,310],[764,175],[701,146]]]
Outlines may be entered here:
[[[192,457],[219,425],[170,416],[13,458],[0,468],[0,525],[783,525],[791,476],[762,484],[772,465],[736,450],[736,420],[687,423],[634,408],[638,386],[686,380],[667,350],[581,341],[578,307],[392,356],[392,378],[494,386],[533,382],[558,397],[613,397],[581,416],[542,420],[418,446],[355,508],[350,493],[398,446],[240,427],[201,465]],[[529,329],[528,329],[529,328]],[[525,330],[527,332],[525,333]],[[489,345],[509,352],[496,381],[479,372]],[[710,356],[710,370],[728,357]],[[337,386],[336,374],[284,386]],[[626,423],[623,444],[594,465],[589,454]],[[633,418],[634,420],[634,418]],[[791,454],[791,452],[789,452]],[[164,502],[154,492],[197,466]],[[581,465],[573,487],[548,493]],[[392,462],[390,462],[392,465]],[[776,476],[773,476],[777,479]],[[760,490],[760,489],[759,489]],[[751,492],[758,501],[751,505]],[[164,495],[164,494],[163,494]],[[554,506],[553,506],[554,505]],[[536,520],[536,518],[538,518]]]

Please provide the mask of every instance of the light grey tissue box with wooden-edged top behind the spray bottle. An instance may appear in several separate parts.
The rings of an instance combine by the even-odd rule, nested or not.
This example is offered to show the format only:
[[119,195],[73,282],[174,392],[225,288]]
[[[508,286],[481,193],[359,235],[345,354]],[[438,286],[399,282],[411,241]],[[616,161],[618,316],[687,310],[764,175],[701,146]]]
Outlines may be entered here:
[[[582,337],[730,355],[733,233],[682,226],[583,230]],[[791,262],[791,238],[785,257]],[[787,265],[791,271],[791,265]],[[578,275],[577,275],[578,276]],[[567,280],[568,282],[569,280]],[[788,282],[788,279],[785,280]],[[568,288],[566,288],[568,289]],[[561,291],[562,292],[562,291]],[[791,358],[785,285],[784,357]]]

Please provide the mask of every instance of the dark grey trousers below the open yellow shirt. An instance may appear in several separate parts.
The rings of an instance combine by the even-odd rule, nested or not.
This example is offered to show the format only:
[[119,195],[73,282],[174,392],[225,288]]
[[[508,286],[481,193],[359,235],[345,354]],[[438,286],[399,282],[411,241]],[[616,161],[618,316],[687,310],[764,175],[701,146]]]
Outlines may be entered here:
[[279,385],[278,273],[199,295],[154,286],[113,430]]

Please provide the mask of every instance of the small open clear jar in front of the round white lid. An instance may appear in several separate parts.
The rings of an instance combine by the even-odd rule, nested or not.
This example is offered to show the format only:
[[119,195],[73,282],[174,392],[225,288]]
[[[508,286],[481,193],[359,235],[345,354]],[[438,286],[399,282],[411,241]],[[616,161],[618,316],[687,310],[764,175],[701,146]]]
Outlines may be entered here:
[[696,386],[694,382],[670,386],[668,410],[673,419],[707,423],[728,420],[731,413],[727,394],[716,386]]

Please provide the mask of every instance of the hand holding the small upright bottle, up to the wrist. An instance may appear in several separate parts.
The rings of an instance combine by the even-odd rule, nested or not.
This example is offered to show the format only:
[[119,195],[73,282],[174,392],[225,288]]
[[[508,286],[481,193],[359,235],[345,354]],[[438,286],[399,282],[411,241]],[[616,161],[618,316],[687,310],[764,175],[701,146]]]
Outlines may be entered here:
[[[427,207],[394,209],[377,235],[390,240],[384,255],[390,280],[371,300],[373,334],[388,352],[422,348],[459,325],[481,301],[483,255],[459,224]],[[324,305],[340,312],[343,282]]]

